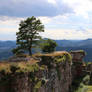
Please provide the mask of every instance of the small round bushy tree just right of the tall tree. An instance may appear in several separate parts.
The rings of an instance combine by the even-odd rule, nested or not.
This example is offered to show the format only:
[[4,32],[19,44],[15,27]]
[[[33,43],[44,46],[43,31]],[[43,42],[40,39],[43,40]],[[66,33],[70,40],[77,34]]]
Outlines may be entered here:
[[55,48],[57,46],[57,43],[54,40],[48,39],[44,40],[44,43],[42,43],[41,49],[42,52],[53,52],[55,51]]

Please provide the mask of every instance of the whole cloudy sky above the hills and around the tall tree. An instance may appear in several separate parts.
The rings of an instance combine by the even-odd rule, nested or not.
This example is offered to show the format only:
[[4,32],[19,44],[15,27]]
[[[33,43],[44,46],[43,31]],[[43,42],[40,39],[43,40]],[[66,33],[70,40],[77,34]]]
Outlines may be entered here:
[[43,38],[92,38],[92,0],[0,0],[0,40],[16,40],[19,23],[35,16]]

